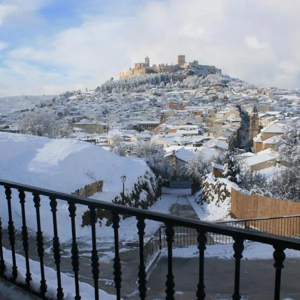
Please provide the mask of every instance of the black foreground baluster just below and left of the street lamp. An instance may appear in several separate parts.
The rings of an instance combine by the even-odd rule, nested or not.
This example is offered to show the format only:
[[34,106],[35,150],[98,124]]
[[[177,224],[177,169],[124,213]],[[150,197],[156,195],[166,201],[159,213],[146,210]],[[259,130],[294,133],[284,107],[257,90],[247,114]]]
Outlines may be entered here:
[[120,300],[121,298],[121,263],[119,255],[119,246],[118,246],[118,227],[119,227],[119,216],[117,213],[112,212],[112,228],[114,232],[114,258],[113,258],[113,280],[116,289],[116,299]]

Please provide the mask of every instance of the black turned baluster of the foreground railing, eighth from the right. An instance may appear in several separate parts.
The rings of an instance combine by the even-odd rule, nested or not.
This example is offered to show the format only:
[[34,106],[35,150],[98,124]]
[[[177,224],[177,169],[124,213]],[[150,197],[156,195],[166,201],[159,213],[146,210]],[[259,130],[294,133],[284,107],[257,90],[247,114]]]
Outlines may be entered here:
[[72,267],[74,272],[75,278],[75,300],[80,300],[81,296],[79,294],[79,278],[78,278],[78,271],[79,271],[79,255],[78,255],[78,246],[76,242],[76,229],[75,229],[75,216],[76,216],[76,206],[74,203],[68,202],[68,211],[69,216],[71,217],[71,229],[72,229],[72,247],[71,247],[71,260],[72,260]]

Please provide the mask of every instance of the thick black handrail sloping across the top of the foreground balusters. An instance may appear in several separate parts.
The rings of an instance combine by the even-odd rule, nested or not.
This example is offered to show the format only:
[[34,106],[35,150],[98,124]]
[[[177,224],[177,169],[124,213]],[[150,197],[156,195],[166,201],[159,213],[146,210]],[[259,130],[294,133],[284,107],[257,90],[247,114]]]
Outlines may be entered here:
[[300,250],[300,239],[296,239],[292,237],[274,235],[262,231],[251,231],[244,228],[229,227],[223,224],[190,219],[181,216],[174,216],[174,215],[170,216],[169,214],[166,213],[154,212],[154,211],[149,211],[149,210],[135,208],[135,207],[128,207],[128,206],[105,202],[93,198],[86,198],[83,196],[75,196],[63,192],[57,192],[50,189],[44,189],[44,188],[26,185],[22,183],[16,183],[8,180],[0,179],[0,185],[7,186],[9,188],[21,189],[24,191],[31,192],[33,194],[39,194],[51,198],[65,200],[72,204],[88,205],[94,208],[102,208],[110,211],[115,211],[115,213],[120,213],[120,214],[127,214],[127,215],[129,214],[144,219],[151,219],[158,222],[168,223],[170,225],[185,226],[189,228],[199,229],[201,231],[209,231],[212,233],[219,233],[219,234],[233,236],[241,239],[247,239],[247,240],[267,243],[271,245],[284,246],[290,249]]

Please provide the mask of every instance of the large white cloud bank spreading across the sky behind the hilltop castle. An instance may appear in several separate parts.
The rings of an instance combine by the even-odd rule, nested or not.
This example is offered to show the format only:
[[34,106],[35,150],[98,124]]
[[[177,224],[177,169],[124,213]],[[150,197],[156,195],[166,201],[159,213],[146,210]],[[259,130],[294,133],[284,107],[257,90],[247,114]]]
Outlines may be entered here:
[[[175,62],[177,54],[185,54],[187,60],[213,64],[250,83],[299,87],[300,19],[294,11],[300,9],[300,1],[290,0],[292,12],[279,0],[251,3],[149,0],[126,17],[85,15],[79,26],[51,36],[45,32],[38,36],[38,43],[28,42],[10,51],[6,57],[10,64],[2,68],[7,78],[0,94],[15,93],[15,82],[22,93],[93,88],[111,76],[118,77],[119,71],[142,61],[146,54],[150,64]],[[13,81],[16,69],[11,63],[20,61],[26,78]],[[31,71],[38,80],[30,80],[35,78]]]

